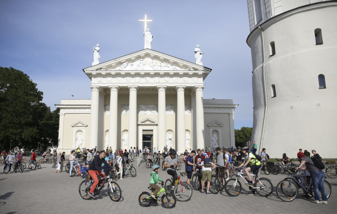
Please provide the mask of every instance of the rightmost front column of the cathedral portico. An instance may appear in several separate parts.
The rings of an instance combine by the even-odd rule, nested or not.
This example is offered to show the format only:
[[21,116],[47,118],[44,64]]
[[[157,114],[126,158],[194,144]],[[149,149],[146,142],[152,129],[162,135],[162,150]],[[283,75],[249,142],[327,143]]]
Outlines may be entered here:
[[205,147],[205,122],[204,122],[204,104],[203,104],[204,86],[196,87],[196,132],[197,132],[197,148]]

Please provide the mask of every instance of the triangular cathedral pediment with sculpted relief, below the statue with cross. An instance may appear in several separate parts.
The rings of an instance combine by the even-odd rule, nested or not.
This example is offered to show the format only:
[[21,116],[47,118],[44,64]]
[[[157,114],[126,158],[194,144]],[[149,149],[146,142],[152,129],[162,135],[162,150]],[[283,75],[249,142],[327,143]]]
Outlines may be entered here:
[[163,54],[151,49],[144,49],[95,66],[83,69],[89,73],[118,73],[137,71],[185,71],[210,72],[211,69],[195,63]]

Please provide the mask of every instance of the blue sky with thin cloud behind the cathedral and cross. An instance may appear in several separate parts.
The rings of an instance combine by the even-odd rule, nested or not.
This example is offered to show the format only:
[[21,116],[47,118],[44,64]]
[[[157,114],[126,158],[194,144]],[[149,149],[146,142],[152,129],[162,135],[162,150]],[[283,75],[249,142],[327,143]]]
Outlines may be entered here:
[[101,62],[143,49],[144,15],[151,48],[194,62],[200,45],[204,98],[233,99],[235,128],[252,126],[251,57],[245,1],[0,1],[0,66],[28,74],[51,109],[61,99],[90,99],[93,46]]

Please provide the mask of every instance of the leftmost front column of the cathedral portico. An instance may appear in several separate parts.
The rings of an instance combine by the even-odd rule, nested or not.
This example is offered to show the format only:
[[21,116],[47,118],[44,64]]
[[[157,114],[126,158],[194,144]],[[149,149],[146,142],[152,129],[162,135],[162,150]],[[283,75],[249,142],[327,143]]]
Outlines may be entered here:
[[90,144],[89,148],[95,148],[98,143],[98,106],[100,87],[91,86],[91,113],[90,113]]

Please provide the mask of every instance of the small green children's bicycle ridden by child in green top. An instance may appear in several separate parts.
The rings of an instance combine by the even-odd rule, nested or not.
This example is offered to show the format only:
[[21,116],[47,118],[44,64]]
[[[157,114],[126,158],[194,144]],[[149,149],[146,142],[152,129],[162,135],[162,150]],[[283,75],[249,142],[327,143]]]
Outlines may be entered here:
[[[161,196],[161,205],[164,208],[173,208],[176,206],[177,200],[175,200],[175,197],[167,191],[167,186],[162,185],[162,188],[158,191],[156,198],[159,197],[160,193],[163,192],[164,194]],[[155,189],[151,189],[151,187],[148,187],[149,190],[151,190],[152,194],[155,191]],[[154,199],[149,192],[142,192],[138,196],[138,202],[139,205],[147,207],[150,206],[152,202],[157,203],[157,199]]]

